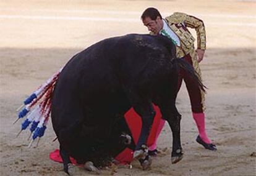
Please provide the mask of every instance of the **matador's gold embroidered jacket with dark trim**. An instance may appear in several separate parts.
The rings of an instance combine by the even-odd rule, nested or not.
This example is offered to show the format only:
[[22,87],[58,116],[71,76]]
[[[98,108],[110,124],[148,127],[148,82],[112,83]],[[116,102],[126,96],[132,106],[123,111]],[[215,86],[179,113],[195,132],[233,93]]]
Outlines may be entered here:
[[184,57],[194,50],[195,38],[187,27],[197,31],[197,49],[206,49],[205,26],[202,20],[181,12],[175,12],[165,20],[181,41],[181,47],[176,47],[177,57]]

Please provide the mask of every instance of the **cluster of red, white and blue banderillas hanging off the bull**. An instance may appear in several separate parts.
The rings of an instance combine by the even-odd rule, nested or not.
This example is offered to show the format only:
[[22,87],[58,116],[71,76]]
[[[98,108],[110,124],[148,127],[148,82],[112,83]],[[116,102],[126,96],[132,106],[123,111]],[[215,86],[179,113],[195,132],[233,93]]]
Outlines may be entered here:
[[43,135],[45,134],[46,125],[48,124],[49,115],[51,113],[51,98],[54,86],[59,78],[61,70],[53,74],[51,78],[49,78],[44,84],[42,84],[37,90],[35,90],[35,92],[33,92],[33,94],[30,95],[30,97],[28,97],[23,102],[23,106],[25,107],[19,112],[19,116],[15,122],[27,116],[27,118],[21,124],[20,132],[22,132],[25,129],[28,129],[28,126],[30,126],[31,124],[30,136],[32,134],[33,135],[32,141],[28,146],[31,146],[32,142],[36,138],[38,138],[39,141],[40,138],[43,137]]

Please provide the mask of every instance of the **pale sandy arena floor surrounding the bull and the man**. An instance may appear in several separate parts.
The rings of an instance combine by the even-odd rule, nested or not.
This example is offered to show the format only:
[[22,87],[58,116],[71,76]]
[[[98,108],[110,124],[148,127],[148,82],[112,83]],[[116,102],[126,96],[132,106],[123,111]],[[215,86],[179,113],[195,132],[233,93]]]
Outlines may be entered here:
[[[200,64],[207,94],[207,130],[218,151],[195,142],[197,128],[182,86],[184,158],[171,164],[171,131],[164,127],[151,170],[138,162],[115,175],[256,175],[256,2],[255,1],[0,1],[0,175],[66,175],[49,160],[58,148],[49,125],[38,148],[28,133],[15,138],[16,108],[76,52],[111,36],[147,33],[140,15],[156,7],[163,16],[180,11],[202,18],[207,52]],[[80,170],[81,175],[89,175]],[[103,170],[103,175],[109,175]]]

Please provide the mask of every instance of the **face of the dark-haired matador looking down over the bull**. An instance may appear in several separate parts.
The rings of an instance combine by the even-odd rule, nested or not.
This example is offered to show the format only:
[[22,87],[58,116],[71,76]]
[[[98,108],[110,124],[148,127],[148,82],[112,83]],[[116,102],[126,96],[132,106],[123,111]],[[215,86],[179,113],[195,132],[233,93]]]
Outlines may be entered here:
[[156,20],[146,17],[142,22],[144,26],[147,26],[148,31],[151,31],[155,35],[159,34],[163,28],[163,20],[159,16],[156,17]]

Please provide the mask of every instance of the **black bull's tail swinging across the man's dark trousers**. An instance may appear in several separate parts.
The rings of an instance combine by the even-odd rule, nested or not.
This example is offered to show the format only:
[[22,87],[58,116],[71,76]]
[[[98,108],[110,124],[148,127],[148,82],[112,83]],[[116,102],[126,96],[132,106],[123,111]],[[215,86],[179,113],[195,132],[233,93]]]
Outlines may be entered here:
[[183,58],[175,58],[174,62],[177,63],[177,65],[179,66],[179,68],[184,69],[185,71],[187,71],[187,73],[189,73],[190,77],[195,81],[195,83],[198,85],[198,87],[203,91],[206,92],[205,89],[207,89],[207,87],[205,85],[203,85],[202,80],[200,79],[200,76],[198,75],[198,73],[195,71],[194,67],[192,65],[190,65],[189,63],[186,62],[186,60],[184,60]]

